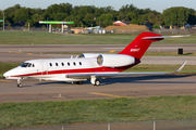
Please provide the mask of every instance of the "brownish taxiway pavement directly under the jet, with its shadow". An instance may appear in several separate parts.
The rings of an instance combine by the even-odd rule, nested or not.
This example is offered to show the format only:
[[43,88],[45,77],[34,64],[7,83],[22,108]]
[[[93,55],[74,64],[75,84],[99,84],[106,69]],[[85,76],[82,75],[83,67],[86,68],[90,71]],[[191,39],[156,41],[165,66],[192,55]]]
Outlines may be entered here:
[[159,95],[195,95],[196,75],[132,76],[101,80],[101,86],[68,82],[0,80],[0,102],[71,101],[112,98],[148,98]]

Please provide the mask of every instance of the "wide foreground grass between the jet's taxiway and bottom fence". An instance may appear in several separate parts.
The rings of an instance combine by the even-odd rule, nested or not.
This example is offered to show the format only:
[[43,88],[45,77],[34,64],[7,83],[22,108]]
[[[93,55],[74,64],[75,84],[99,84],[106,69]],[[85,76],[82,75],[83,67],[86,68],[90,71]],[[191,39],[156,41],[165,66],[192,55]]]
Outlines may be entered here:
[[185,119],[196,116],[196,96],[1,103],[0,128],[66,123]]

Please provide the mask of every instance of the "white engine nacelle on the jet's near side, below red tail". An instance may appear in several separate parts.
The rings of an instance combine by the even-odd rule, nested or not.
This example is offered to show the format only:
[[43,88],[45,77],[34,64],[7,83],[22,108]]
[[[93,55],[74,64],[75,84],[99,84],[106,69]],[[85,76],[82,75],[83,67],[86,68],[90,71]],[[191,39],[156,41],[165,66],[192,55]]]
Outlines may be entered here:
[[97,63],[105,67],[122,67],[135,63],[135,57],[124,54],[99,54]]

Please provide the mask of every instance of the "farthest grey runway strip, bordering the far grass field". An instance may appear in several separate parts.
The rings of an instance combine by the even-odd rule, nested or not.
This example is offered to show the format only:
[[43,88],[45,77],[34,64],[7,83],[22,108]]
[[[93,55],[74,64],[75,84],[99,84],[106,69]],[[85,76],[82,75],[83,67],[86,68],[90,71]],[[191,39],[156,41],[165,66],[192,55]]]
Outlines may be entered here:
[[[127,44],[0,44],[0,52],[24,52],[24,53],[84,53],[84,52],[109,52],[115,50],[122,51]],[[184,51],[196,51],[195,43],[180,43],[180,44],[151,44],[148,49],[150,52],[170,52],[177,51],[177,49],[184,49]]]

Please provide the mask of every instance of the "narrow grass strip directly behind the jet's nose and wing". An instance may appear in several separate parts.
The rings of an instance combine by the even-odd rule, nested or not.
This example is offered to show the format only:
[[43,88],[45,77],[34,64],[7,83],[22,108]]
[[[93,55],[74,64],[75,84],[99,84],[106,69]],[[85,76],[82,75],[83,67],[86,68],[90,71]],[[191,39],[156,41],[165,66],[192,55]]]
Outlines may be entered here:
[[[16,66],[21,63],[0,63],[0,78],[3,78],[3,74]],[[136,72],[173,72],[179,68],[180,65],[145,65],[139,64],[132,68],[124,70],[124,73],[136,73]],[[181,74],[186,73],[196,73],[195,65],[185,65],[184,68],[180,72]]]

